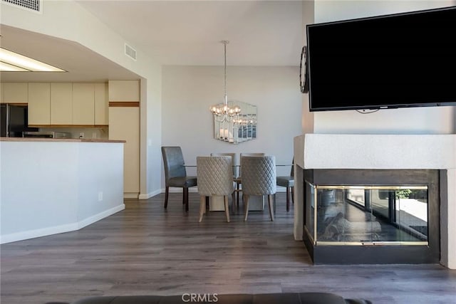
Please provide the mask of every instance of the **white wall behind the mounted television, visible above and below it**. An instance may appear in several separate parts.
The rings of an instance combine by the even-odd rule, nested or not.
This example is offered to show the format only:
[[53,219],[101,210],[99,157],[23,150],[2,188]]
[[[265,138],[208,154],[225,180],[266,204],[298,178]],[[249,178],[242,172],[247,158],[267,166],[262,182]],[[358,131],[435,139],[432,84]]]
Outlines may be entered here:
[[[315,23],[454,6],[455,1],[323,1],[314,5]],[[423,37],[425,41],[425,37]],[[456,107],[407,108],[361,114],[354,110],[315,112],[316,133],[452,134]]]

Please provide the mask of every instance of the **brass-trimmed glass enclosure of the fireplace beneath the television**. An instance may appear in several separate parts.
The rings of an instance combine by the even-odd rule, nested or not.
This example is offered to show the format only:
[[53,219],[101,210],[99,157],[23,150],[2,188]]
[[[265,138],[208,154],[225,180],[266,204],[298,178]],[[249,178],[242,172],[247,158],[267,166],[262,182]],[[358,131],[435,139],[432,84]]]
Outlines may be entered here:
[[316,245],[427,244],[426,186],[306,185],[306,228]]

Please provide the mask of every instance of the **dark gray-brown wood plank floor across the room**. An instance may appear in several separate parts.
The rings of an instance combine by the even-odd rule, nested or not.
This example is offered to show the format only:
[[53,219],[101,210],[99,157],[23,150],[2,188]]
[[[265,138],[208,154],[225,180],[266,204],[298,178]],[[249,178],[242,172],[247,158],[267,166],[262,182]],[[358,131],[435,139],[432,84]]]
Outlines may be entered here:
[[[126,209],[80,231],[6,243],[2,304],[72,301],[90,295],[321,291],[373,303],[456,303],[456,271],[440,265],[313,266],[293,238],[293,209],[277,194],[265,211],[209,212],[198,223],[190,193],[125,201]],[[231,206],[231,205],[230,205]]]

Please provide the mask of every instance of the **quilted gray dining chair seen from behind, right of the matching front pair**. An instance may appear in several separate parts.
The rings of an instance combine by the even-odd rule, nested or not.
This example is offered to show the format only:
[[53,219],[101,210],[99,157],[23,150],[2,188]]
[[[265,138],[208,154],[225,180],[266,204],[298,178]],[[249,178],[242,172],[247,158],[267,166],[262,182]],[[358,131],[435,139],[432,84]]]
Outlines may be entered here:
[[244,221],[249,215],[249,196],[267,195],[269,216],[274,221],[273,195],[276,194],[276,158],[274,156],[243,156],[242,193],[244,194]]

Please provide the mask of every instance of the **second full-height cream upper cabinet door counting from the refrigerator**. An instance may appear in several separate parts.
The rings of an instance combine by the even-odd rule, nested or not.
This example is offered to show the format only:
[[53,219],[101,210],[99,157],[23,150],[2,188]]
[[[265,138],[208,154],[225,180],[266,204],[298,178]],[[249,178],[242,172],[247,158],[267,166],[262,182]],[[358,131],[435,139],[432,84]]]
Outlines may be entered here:
[[73,124],[73,84],[51,83],[51,125]]

